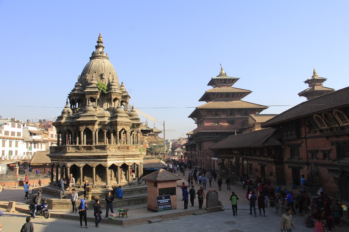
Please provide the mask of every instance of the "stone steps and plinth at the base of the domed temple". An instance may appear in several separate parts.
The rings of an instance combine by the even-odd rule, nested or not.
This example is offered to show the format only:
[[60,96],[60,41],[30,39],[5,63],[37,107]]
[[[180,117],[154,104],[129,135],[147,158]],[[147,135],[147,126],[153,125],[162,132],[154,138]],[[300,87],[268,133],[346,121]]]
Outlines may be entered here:
[[[130,205],[138,205],[147,202],[147,185],[131,185],[122,186],[123,198],[115,199],[113,202],[114,208],[125,208]],[[99,204],[105,209],[105,196],[108,191],[112,189],[92,189],[92,196],[98,196],[101,198]],[[80,199],[83,199],[84,191],[83,189],[76,189],[78,195],[77,205],[80,203]],[[43,187],[42,197],[47,198],[46,202],[49,209],[72,209],[72,203],[70,201],[70,194],[72,191],[67,192],[66,196],[68,199],[64,199],[62,194],[62,199],[59,199],[59,188],[56,186],[45,186]],[[85,200],[88,208],[93,208],[95,200]]]

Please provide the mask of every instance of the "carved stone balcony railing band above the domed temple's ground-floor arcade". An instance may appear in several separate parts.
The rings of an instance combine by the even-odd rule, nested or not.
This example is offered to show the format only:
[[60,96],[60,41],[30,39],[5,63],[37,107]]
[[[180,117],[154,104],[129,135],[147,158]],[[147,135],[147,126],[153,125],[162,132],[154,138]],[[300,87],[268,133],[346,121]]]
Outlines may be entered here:
[[141,145],[64,145],[50,146],[50,152],[79,152],[79,151],[139,151]]

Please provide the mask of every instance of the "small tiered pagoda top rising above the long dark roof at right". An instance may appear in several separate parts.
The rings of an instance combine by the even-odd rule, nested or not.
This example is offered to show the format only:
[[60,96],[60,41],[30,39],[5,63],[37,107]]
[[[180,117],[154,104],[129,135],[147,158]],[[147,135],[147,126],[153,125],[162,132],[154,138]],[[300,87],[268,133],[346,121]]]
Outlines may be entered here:
[[327,78],[319,77],[314,68],[311,78],[304,81],[304,83],[309,85],[309,88],[303,90],[298,95],[300,97],[306,97],[307,100],[310,100],[315,97],[334,92],[334,89],[322,86],[322,83],[324,83],[326,80]]

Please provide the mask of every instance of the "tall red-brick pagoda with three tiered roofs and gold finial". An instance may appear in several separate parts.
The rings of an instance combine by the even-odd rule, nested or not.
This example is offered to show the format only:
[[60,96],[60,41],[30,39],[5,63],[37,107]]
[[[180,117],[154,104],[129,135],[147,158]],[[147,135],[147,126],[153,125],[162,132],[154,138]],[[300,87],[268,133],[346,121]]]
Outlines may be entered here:
[[192,134],[188,134],[190,137],[184,146],[188,160],[194,161],[197,166],[225,166],[224,160],[217,163],[218,158],[208,147],[230,135],[242,133],[239,128],[248,119],[248,115],[258,114],[268,108],[242,101],[252,91],[232,87],[238,80],[239,78],[228,77],[221,65],[219,75],[211,78],[207,84],[213,88],[207,90],[199,99],[207,103],[196,107],[188,116],[195,121],[197,128]]

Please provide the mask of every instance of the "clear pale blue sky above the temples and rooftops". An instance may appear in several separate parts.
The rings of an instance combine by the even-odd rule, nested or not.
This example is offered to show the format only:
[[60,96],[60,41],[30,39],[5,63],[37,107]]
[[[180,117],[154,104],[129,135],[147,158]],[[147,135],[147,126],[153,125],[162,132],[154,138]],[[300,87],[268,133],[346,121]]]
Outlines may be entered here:
[[[324,86],[348,86],[349,1],[0,1],[2,118],[60,115],[102,33],[130,104],[195,107],[220,63],[243,100],[296,105],[313,67]],[[272,106],[262,113],[281,113]],[[172,139],[194,110],[141,109]],[[141,118],[145,121],[144,118]],[[149,123],[152,124],[151,122]],[[162,128],[162,125],[156,124]]]

